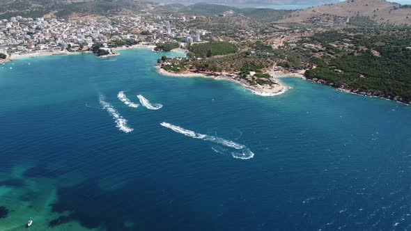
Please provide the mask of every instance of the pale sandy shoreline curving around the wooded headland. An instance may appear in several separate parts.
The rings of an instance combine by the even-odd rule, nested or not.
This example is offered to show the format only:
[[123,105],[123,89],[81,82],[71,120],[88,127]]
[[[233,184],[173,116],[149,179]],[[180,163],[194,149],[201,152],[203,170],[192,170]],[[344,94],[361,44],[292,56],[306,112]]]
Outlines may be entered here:
[[157,72],[159,74],[162,74],[164,76],[169,76],[169,77],[202,77],[202,78],[209,78],[209,79],[222,79],[222,80],[228,80],[228,81],[233,81],[234,83],[240,84],[242,87],[246,88],[247,90],[250,90],[251,93],[255,95],[261,95],[261,96],[274,96],[274,95],[281,95],[286,93],[288,89],[290,89],[289,86],[286,86],[284,83],[281,83],[280,81],[277,81],[276,78],[273,78],[275,81],[275,86],[261,86],[261,85],[254,85],[251,86],[243,81],[240,81],[238,79],[233,79],[229,74],[222,73],[222,74],[205,74],[205,73],[196,73],[196,72],[188,72],[188,73],[173,73],[173,72],[168,72],[164,70],[160,65],[155,66]]

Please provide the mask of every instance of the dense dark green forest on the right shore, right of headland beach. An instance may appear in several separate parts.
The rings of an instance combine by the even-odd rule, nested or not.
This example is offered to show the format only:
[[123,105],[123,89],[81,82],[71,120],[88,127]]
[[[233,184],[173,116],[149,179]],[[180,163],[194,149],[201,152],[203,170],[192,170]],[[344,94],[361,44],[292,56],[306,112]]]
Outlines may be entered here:
[[[340,36],[337,39],[339,35],[334,32],[317,35],[321,36],[331,42],[344,38]],[[316,69],[307,70],[307,78],[320,79],[364,95],[410,103],[410,38],[410,34],[403,33],[357,34],[350,38],[350,43],[354,45],[351,53],[336,51],[334,56],[323,56],[322,63]]]

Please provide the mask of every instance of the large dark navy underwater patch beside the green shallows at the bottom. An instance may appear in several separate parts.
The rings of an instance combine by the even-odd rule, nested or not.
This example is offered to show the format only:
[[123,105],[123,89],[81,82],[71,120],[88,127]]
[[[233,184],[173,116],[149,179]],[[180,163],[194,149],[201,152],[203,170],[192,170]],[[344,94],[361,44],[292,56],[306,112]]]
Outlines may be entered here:
[[[190,214],[197,220],[202,220],[185,202],[170,202],[170,198],[177,197],[171,191],[164,193],[152,183],[150,180],[133,180],[122,189],[104,191],[98,186],[98,180],[86,180],[77,186],[59,189],[59,200],[52,204],[52,210],[58,213],[70,211],[69,218],[78,221],[84,228],[93,229],[104,225],[109,231],[135,230],[135,227],[127,228],[125,221],[136,223],[142,230],[162,230],[164,223],[168,230],[179,230],[181,223],[176,218],[183,216],[182,214]],[[162,206],[153,206],[159,202]],[[59,225],[69,218],[53,221],[52,225]],[[158,222],[160,220],[162,223]],[[196,226],[186,226],[189,229],[185,230],[198,230]]]

